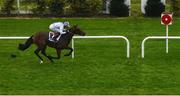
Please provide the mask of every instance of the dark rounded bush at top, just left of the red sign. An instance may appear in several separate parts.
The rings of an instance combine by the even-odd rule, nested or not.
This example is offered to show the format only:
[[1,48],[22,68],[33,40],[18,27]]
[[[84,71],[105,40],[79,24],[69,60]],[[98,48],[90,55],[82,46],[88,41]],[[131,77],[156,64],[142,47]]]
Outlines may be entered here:
[[148,0],[145,7],[146,16],[158,17],[165,11],[165,5],[161,0]]

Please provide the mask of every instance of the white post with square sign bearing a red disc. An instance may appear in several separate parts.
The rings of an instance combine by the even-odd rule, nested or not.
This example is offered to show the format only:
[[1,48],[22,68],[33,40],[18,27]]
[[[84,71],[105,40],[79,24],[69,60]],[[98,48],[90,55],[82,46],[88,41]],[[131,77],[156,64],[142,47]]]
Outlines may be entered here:
[[166,53],[168,53],[168,33],[169,28],[168,25],[172,25],[172,13],[169,12],[163,12],[161,14],[161,24],[166,25]]

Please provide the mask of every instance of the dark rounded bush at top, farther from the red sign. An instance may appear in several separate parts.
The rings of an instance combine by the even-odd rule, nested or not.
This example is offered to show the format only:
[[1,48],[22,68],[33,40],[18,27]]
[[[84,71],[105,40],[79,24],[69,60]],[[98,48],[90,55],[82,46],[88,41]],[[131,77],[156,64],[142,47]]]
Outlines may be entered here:
[[129,16],[129,6],[124,4],[125,0],[112,0],[110,13],[114,16]]

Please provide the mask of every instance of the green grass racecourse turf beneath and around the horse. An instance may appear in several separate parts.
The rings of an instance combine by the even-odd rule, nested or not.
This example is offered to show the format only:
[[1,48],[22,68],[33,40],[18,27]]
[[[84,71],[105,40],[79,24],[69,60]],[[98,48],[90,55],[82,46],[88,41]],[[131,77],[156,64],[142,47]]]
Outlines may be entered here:
[[[0,19],[0,36],[30,36],[66,20],[88,36],[126,36],[130,58],[122,39],[77,39],[75,59],[64,57],[64,50],[55,63],[46,59],[39,64],[34,45],[21,52],[17,45],[25,40],[0,40],[0,94],[180,94],[179,40],[169,40],[169,54],[165,40],[149,40],[141,58],[145,37],[165,35],[160,18]],[[180,35],[179,26],[180,19],[175,19],[169,35]],[[52,48],[47,53],[56,55]]]

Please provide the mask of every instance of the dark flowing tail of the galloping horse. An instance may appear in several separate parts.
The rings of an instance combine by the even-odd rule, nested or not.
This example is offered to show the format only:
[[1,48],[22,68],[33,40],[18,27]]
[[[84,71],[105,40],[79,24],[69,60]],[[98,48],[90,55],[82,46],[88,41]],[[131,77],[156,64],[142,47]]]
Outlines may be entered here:
[[24,51],[27,48],[29,48],[31,46],[31,44],[33,44],[33,36],[28,38],[24,44],[19,44],[18,49],[21,51]]

